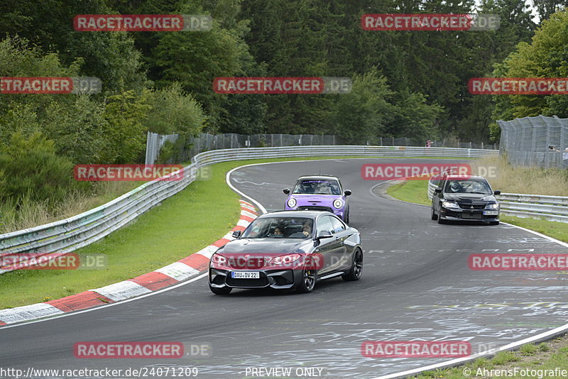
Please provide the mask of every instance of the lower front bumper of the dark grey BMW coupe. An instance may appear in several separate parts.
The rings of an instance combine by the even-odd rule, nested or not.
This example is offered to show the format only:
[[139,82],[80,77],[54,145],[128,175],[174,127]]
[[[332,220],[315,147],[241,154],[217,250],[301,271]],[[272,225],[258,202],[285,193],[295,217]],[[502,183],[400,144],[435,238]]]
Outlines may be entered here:
[[[252,270],[256,271],[256,270]],[[302,280],[302,270],[258,270],[259,279],[234,279],[231,270],[209,268],[209,285],[214,288],[266,288],[285,290]]]

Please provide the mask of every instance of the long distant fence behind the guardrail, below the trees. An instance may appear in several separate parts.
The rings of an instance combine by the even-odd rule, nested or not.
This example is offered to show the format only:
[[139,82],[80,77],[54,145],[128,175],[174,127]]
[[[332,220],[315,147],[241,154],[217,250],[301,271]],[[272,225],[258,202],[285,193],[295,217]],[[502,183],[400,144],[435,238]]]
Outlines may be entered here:
[[[427,141],[416,141],[413,138],[378,137],[381,146],[426,146]],[[318,136],[314,134],[209,134],[202,133],[198,137],[183,137],[177,134],[160,136],[148,132],[146,143],[146,165],[154,163],[189,162],[195,155],[209,150],[231,148],[265,148],[283,146],[343,145],[337,136]],[[363,141],[359,145],[371,145]],[[494,144],[460,143],[457,140],[430,141],[436,148],[476,148],[496,149]],[[158,157],[159,155],[159,157]]]

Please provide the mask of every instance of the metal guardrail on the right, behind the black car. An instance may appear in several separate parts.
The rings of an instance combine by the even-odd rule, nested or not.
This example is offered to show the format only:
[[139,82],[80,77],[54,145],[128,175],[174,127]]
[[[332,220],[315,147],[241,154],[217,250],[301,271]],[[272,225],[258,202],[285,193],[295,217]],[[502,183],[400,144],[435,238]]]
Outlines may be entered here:
[[[435,187],[429,180],[429,199],[432,199]],[[568,197],[501,193],[496,195],[496,198],[501,204],[502,214],[568,223]]]

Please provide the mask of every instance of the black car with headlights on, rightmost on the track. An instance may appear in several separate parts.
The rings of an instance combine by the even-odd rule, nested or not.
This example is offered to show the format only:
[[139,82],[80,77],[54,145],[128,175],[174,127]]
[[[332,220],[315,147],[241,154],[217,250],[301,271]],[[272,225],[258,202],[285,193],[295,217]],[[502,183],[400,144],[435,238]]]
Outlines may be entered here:
[[484,177],[447,175],[436,180],[432,195],[432,220],[486,221],[499,224],[499,202]]

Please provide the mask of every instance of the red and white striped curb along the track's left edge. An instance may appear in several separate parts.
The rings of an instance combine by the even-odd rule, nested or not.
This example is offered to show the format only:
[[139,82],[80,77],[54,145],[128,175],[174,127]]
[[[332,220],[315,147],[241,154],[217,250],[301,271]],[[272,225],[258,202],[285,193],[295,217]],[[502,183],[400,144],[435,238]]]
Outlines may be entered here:
[[232,232],[237,230],[243,231],[246,229],[246,226],[249,226],[251,221],[258,216],[253,204],[245,202],[244,200],[239,200],[239,202],[241,202],[241,217],[236,226],[221,239],[206,248],[202,248],[200,251],[197,251],[197,253],[193,253],[186,258],[178,260],[178,262],[163,268],[158,268],[158,270],[140,275],[133,279],[95,288],[94,290],[84,291],[77,295],[62,297],[58,300],[50,300],[49,302],[41,302],[11,309],[2,309],[0,310],[0,326],[131,299],[132,297],[146,295],[150,292],[161,290],[170,285],[201,275],[209,267],[209,259],[213,253],[217,251],[217,248],[234,239]]

